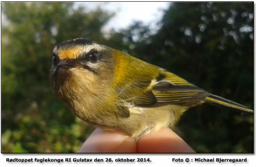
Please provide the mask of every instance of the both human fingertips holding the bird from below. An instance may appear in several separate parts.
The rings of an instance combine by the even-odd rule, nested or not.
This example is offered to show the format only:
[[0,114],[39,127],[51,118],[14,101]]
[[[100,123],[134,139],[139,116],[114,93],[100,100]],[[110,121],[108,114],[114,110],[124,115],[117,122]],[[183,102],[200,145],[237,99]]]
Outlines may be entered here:
[[121,131],[97,128],[77,153],[195,153],[170,128],[141,136],[137,143]]

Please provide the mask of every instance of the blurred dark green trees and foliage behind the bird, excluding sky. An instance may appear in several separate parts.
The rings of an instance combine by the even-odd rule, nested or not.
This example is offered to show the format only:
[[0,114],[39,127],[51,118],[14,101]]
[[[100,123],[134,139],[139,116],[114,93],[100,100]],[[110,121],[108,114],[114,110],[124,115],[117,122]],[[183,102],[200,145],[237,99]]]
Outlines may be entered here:
[[[171,3],[155,33],[137,21],[108,38],[101,29],[113,13],[73,5],[2,3],[2,152],[75,152],[94,129],[50,88],[53,47],[77,37],[253,108],[253,3]],[[197,152],[253,153],[253,116],[244,112],[204,104],[185,112],[175,131]]]

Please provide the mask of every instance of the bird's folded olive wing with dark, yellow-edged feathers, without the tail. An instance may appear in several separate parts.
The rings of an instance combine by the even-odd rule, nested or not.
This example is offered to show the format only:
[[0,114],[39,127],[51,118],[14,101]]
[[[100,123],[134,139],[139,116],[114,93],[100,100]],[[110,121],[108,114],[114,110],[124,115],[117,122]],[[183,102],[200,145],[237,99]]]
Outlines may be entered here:
[[205,99],[209,93],[168,71],[161,71],[150,81],[135,81],[122,88],[121,98],[126,107],[158,107],[166,104],[192,107]]

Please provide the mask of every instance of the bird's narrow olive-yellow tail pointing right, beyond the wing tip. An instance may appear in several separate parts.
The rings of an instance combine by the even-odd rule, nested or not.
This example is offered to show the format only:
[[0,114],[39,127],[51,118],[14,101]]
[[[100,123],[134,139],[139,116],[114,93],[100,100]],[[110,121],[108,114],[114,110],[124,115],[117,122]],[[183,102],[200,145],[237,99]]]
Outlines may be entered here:
[[249,109],[248,107],[245,107],[245,106],[243,106],[241,104],[238,104],[236,102],[232,102],[231,100],[224,99],[223,97],[216,96],[214,94],[209,95],[208,97],[206,97],[205,100],[206,100],[206,102],[214,104],[214,105],[215,104],[224,105],[224,106],[227,106],[227,107],[232,107],[232,108],[235,108],[235,109],[238,109],[238,110],[243,110],[243,111],[246,111],[246,112],[253,113],[253,110]]

